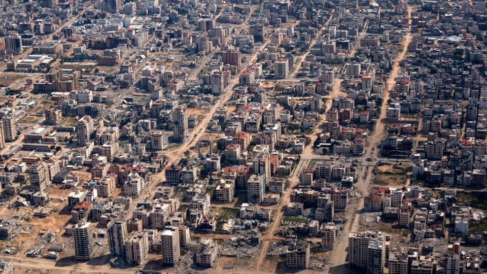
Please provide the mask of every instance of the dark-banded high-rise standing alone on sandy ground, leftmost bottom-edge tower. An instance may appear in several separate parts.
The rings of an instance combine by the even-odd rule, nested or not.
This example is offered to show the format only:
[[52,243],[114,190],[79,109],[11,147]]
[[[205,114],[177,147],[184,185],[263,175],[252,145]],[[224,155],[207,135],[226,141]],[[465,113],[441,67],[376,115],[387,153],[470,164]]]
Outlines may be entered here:
[[93,225],[90,222],[79,222],[73,226],[75,242],[75,259],[89,260],[93,257]]

